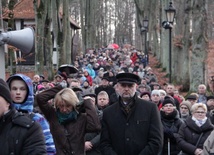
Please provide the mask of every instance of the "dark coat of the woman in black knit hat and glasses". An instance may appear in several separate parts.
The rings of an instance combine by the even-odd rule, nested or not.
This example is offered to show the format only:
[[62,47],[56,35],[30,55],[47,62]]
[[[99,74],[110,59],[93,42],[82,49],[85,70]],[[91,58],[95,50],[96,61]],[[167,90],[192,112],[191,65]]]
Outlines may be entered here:
[[164,133],[164,144],[162,155],[168,154],[168,143],[170,143],[170,154],[177,155],[180,152],[180,149],[177,146],[176,138],[174,137],[175,133],[178,133],[180,126],[183,124],[179,118],[178,111],[175,109],[171,114],[165,115],[165,112],[160,111],[161,113],[161,122],[163,125]]

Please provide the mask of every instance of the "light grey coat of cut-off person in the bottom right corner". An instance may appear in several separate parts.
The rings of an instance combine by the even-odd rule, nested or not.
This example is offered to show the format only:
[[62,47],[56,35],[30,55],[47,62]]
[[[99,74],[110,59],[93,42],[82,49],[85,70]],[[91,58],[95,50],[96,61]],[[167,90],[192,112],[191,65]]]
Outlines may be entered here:
[[204,142],[203,155],[214,155],[214,130]]

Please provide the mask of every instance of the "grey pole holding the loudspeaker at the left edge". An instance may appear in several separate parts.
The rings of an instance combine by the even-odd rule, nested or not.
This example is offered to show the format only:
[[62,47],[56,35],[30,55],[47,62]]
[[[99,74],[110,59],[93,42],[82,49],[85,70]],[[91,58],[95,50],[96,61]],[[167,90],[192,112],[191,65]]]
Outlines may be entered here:
[[[0,0],[0,35],[3,32],[2,1]],[[5,80],[5,54],[4,45],[0,45],[0,78]]]

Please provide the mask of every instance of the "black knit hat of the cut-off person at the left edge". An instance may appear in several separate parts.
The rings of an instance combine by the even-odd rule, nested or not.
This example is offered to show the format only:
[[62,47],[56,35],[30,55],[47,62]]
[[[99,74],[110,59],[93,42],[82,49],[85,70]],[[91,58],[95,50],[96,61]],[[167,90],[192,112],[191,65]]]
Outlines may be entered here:
[[10,89],[3,79],[0,79],[0,96],[3,97],[8,103],[12,103]]

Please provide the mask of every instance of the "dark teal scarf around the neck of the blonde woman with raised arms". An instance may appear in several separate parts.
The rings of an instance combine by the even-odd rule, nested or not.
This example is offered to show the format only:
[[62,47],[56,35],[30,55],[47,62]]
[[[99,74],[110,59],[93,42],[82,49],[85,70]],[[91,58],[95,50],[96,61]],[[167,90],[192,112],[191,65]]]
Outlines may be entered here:
[[68,123],[69,121],[76,120],[77,116],[78,116],[78,113],[76,110],[74,110],[68,114],[61,113],[59,110],[57,110],[56,114],[57,114],[59,123],[63,124],[63,125]]

